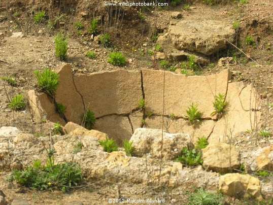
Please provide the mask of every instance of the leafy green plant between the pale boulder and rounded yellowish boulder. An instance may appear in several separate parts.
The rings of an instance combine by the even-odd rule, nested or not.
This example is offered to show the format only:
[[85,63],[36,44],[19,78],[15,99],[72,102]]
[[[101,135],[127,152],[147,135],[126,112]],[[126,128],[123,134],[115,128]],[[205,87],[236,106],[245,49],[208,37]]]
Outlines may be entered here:
[[185,163],[187,166],[194,166],[203,162],[201,152],[196,152],[195,149],[188,150],[186,147],[183,147],[181,155],[176,159],[176,161]]

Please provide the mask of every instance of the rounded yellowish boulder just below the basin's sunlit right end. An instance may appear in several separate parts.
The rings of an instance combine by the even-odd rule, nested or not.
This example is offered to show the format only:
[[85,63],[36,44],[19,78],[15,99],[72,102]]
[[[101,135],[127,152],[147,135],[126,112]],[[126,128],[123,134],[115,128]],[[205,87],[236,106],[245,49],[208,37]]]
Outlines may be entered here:
[[[203,167],[219,173],[240,168],[240,154],[233,145],[211,143],[202,149]],[[231,169],[230,169],[231,168]]]

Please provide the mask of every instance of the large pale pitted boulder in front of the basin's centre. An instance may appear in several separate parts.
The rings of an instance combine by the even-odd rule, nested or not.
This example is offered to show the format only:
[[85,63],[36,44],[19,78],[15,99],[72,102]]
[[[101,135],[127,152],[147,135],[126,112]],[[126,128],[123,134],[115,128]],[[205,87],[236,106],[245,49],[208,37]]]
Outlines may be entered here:
[[[138,128],[130,139],[135,147],[135,156],[142,157],[148,153],[153,158],[161,157],[162,130]],[[183,147],[190,142],[188,134],[170,134],[163,132],[163,159],[173,160]]]

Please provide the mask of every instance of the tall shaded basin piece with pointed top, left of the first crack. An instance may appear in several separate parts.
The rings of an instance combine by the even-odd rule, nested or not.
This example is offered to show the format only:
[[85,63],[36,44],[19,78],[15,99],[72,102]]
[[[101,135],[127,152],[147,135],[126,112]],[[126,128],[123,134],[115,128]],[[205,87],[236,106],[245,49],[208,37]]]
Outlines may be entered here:
[[59,74],[59,86],[56,91],[56,103],[62,103],[66,112],[64,113],[68,121],[80,124],[84,114],[84,105],[79,92],[74,85],[71,66],[62,64],[57,68]]

